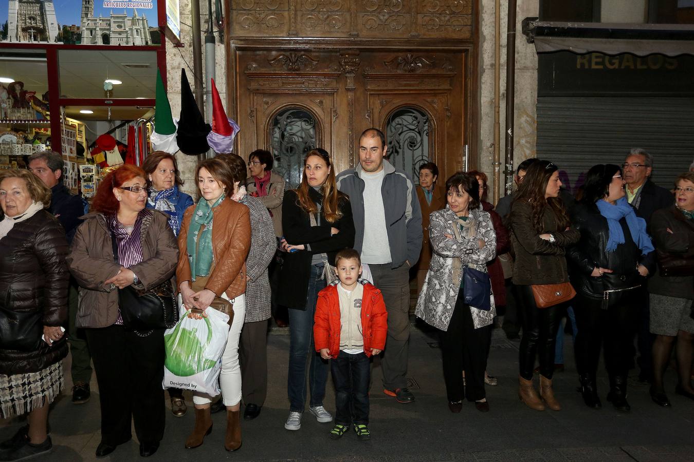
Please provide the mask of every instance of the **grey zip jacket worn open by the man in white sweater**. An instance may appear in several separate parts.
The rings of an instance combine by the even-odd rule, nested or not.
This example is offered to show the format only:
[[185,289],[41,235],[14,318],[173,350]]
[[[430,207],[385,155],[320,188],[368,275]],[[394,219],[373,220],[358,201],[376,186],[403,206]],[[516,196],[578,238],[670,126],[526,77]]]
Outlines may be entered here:
[[[422,248],[422,211],[414,183],[403,170],[383,159],[385,176],[381,187],[383,209],[386,213],[388,242],[393,269],[409,262],[414,266]],[[362,165],[337,175],[337,188],[350,197],[354,219],[354,248],[360,254],[364,243],[364,180],[359,177]]]

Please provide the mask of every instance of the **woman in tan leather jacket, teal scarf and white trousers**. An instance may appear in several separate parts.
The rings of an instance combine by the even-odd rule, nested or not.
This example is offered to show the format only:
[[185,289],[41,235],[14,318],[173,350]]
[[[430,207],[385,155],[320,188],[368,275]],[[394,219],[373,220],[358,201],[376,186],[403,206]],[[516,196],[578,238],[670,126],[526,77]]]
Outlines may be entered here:
[[[221,357],[219,384],[226,406],[224,448],[241,447],[241,368],[239,337],[246,311],[246,256],[251,247],[251,220],[248,207],[232,199],[234,180],[229,166],[221,159],[198,163],[196,178],[201,198],[187,208],[178,235],[180,258],[176,281],[186,309],[203,312],[217,301],[233,308],[229,337]],[[214,224],[214,226],[213,226]],[[221,300],[220,300],[221,299]],[[228,303],[226,303],[228,302]],[[189,317],[200,317],[189,314]],[[203,444],[212,432],[208,395],[194,393],[195,427],[185,442],[187,449]]]

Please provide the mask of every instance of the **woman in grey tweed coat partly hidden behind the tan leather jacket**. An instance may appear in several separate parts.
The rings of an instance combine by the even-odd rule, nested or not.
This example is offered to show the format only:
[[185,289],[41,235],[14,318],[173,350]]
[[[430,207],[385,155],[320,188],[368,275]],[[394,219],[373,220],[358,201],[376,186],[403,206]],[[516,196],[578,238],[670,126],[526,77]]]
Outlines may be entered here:
[[246,404],[244,419],[260,414],[267,396],[267,320],[271,296],[268,266],[275,256],[276,238],[272,217],[257,197],[246,194],[246,162],[236,154],[219,156],[231,168],[234,179],[232,199],[251,211],[251,249],[246,257],[246,315],[241,331],[242,396]]

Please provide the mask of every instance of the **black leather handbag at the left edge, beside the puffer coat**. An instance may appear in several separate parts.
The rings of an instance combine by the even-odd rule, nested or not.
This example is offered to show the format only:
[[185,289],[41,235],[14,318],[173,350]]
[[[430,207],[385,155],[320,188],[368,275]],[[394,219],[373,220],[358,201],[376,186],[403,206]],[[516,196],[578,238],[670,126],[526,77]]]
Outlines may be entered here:
[[10,305],[10,292],[5,303],[0,302],[0,350],[35,351],[41,348],[43,340],[43,312],[13,311]]

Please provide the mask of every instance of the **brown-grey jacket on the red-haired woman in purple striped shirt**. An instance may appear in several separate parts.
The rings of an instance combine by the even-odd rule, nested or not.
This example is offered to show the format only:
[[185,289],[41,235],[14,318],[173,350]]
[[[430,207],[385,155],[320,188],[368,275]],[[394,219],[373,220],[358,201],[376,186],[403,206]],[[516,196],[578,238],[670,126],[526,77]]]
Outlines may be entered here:
[[[138,287],[156,287],[174,276],[178,247],[168,215],[158,210],[142,219],[140,242],[142,262],[130,269],[139,279]],[[72,240],[67,266],[80,285],[77,327],[102,328],[118,319],[118,290],[110,290],[103,281],[115,276],[120,265],[113,260],[111,231],[103,213],[92,212],[81,217]]]

